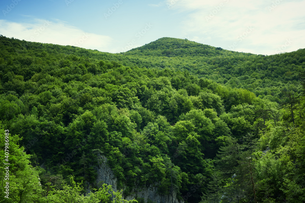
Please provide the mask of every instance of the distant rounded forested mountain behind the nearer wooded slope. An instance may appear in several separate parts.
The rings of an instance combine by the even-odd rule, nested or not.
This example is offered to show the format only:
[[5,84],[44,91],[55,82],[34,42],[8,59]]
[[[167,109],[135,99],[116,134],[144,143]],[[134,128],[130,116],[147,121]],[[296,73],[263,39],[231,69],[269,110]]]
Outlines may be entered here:
[[127,51],[124,55],[141,68],[188,71],[198,78],[247,89],[260,98],[267,96],[276,102],[280,101],[285,89],[300,93],[299,73],[305,63],[305,49],[265,56],[168,37]]

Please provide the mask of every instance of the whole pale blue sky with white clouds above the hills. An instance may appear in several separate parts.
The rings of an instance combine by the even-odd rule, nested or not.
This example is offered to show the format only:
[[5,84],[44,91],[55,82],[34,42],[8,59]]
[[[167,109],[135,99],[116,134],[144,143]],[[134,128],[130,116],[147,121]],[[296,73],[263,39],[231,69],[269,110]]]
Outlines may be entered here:
[[161,37],[273,55],[305,48],[305,0],[1,0],[0,34],[110,53]]

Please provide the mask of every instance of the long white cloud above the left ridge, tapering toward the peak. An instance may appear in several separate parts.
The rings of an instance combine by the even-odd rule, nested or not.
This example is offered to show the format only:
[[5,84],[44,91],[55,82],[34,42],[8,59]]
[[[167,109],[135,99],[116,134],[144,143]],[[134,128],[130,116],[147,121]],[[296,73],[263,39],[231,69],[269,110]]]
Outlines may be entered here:
[[60,20],[34,19],[32,23],[0,20],[0,30],[3,36],[20,40],[71,45],[99,51],[109,51],[113,42],[111,37],[87,33]]

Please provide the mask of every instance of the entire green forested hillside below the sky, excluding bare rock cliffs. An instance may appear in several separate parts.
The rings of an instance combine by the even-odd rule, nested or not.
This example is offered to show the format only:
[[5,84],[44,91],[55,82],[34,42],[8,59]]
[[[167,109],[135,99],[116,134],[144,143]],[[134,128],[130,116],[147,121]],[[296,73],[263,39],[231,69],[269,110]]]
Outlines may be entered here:
[[96,183],[102,156],[118,199],[155,185],[185,202],[305,201],[305,49],[161,38],[110,54],[3,36],[0,48],[1,201],[114,202]]

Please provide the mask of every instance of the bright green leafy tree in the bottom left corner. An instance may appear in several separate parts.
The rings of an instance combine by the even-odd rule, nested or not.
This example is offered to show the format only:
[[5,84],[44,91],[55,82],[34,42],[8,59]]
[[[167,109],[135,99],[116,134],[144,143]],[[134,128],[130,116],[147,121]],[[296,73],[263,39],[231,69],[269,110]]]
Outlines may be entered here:
[[[4,202],[34,202],[34,199],[41,192],[39,186],[38,171],[30,165],[30,155],[23,152],[24,148],[19,146],[18,135],[5,135],[2,123],[0,122],[0,144],[2,161],[1,171],[1,201]],[[6,138],[5,138],[6,137]],[[9,142],[6,142],[8,140]],[[7,145],[8,143],[8,145]],[[6,149],[6,150],[5,150]],[[8,152],[9,155],[5,155]],[[6,157],[5,157],[6,156]],[[4,165],[9,163],[9,165]],[[8,175],[6,174],[8,173]],[[8,183],[8,184],[5,184]],[[8,185],[8,188],[5,188]],[[8,189],[9,194],[4,192]],[[8,195],[6,198],[5,196]]]

